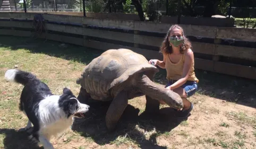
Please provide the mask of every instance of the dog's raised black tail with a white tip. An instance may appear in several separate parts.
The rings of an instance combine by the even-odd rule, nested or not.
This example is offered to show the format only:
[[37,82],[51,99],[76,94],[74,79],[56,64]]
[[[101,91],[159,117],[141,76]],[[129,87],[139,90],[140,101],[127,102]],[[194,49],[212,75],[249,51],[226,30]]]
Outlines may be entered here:
[[26,85],[30,81],[37,80],[37,77],[29,72],[24,72],[19,69],[8,69],[5,72],[5,80]]

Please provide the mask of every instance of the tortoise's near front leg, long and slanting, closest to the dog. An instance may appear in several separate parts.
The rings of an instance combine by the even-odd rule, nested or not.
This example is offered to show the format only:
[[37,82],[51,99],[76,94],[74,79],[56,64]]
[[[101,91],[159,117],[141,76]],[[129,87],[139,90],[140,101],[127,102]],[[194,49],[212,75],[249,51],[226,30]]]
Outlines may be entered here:
[[127,92],[121,91],[116,95],[110,104],[106,114],[106,125],[110,132],[116,127],[116,124],[122,116],[125,108],[128,105]]

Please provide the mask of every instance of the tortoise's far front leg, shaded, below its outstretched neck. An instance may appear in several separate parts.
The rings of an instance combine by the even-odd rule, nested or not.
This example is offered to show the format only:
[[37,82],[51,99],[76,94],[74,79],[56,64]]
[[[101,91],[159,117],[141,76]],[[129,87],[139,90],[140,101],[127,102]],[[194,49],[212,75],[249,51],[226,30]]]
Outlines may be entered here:
[[158,100],[152,99],[146,95],[146,109],[145,113],[158,113],[160,103]]

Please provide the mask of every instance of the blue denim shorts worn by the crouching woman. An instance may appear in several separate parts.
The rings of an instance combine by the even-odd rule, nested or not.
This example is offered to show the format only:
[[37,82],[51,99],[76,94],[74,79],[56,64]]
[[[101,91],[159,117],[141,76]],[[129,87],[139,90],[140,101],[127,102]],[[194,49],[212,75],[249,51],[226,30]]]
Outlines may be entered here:
[[[176,81],[174,80],[170,80],[168,81],[165,87],[170,86],[175,82]],[[191,97],[193,94],[195,94],[195,92],[197,92],[198,90],[198,84],[195,81],[186,81],[186,83],[183,84],[181,87],[185,90],[188,98]]]

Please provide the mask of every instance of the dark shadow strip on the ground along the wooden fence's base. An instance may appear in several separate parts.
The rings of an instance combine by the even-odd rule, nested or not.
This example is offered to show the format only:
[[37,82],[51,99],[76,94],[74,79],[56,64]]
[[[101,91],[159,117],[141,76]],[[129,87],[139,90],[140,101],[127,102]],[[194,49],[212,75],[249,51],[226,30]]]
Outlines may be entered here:
[[[0,47],[9,47],[12,50],[25,48],[32,53],[44,53],[49,56],[74,60],[83,64],[88,64],[91,60],[99,56],[103,51],[55,42],[44,39],[0,36]],[[154,81],[166,84],[166,71],[160,69]],[[224,74],[211,73],[196,70],[199,78],[198,93],[210,97],[223,99],[237,104],[256,108],[256,81]]]

